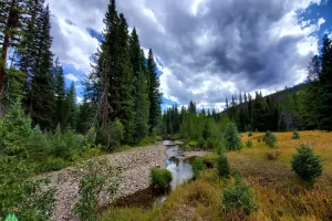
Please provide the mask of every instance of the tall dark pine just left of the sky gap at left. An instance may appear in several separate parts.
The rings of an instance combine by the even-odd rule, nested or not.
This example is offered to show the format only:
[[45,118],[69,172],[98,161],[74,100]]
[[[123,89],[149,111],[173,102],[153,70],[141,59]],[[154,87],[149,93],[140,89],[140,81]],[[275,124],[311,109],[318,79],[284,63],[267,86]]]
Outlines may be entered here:
[[54,128],[53,54],[51,52],[52,38],[50,30],[50,10],[46,7],[37,18],[37,25],[33,29],[33,76],[27,95],[28,109],[33,125],[39,124],[41,129]]

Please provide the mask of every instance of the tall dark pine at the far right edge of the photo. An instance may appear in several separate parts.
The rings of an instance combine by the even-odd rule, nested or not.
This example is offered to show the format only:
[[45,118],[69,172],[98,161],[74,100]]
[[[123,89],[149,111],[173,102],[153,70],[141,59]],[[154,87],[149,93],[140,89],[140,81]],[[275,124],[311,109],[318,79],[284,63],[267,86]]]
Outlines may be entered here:
[[328,35],[323,39],[321,53],[322,70],[319,75],[318,119],[319,128],[332,130],[332,41]]

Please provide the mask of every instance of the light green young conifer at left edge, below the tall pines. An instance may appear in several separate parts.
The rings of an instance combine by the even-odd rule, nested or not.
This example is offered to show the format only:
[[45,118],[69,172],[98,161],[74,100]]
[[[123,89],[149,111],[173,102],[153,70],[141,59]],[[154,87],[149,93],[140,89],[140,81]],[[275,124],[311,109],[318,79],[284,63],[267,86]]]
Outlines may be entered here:
[[0,154],[24,155],[25,141],[31,134],[31,118],[28,117],[17,101],[0,119]]

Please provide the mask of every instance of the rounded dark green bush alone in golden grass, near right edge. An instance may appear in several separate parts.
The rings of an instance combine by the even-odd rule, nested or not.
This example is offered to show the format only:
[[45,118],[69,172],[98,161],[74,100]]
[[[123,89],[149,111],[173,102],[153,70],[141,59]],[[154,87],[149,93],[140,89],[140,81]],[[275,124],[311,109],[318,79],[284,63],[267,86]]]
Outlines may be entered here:
[[292,170],[304,181],[314,182],[322,175],[323,167],[319,156],[307,145],[300,145],[292,158]]

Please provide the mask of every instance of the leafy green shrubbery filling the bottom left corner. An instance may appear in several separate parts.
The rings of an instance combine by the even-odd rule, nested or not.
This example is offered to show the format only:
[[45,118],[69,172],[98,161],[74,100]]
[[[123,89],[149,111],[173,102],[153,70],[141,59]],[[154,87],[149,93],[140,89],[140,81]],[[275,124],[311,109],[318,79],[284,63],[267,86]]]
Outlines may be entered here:
[[19,220],[50,220],[54,189],[48,180],[31,180],[31,169],[21,160],[0,157],[0,220],[15,213]]

